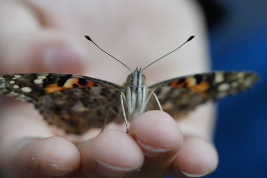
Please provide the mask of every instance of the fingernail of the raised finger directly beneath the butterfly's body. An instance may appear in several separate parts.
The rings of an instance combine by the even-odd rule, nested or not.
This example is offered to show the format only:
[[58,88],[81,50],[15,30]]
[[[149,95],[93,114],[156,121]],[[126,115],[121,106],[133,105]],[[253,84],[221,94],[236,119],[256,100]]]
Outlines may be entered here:
[[136,138],[137,143],[142,147],[143,154],[152,159],[161,158],[166,155],[167,152],[171,151],[171,148],[158,148],[147,145]]

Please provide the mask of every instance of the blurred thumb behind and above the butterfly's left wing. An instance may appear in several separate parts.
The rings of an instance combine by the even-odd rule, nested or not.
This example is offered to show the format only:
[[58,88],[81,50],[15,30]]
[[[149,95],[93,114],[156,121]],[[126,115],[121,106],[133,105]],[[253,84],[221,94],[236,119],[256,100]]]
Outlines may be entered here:
[[1,44],[1,73],[82,73],[82,48],[55,32],[24,32],[12,35],[10,39],[5,36],[0,43],[5,44]]

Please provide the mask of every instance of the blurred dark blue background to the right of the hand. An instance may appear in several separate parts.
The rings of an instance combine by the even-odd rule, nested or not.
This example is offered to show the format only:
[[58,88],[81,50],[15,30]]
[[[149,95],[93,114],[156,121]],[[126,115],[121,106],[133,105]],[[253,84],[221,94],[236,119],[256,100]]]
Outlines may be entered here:
[[250,70],[251,90],[219,101],[215,145],[220,162],[209,178],[267,177],[267,0],[200,0],[209,24],[214,70]]

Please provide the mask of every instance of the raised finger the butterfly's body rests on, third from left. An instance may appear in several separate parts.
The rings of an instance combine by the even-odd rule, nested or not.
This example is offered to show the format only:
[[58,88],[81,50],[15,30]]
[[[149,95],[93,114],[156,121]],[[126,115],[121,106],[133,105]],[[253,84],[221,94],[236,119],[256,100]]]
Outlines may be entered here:
[[165,112],[149,111],[133,120],[129,134],[145,156],[144,166],[134,176],[163,177],[183,143],[175,120]]

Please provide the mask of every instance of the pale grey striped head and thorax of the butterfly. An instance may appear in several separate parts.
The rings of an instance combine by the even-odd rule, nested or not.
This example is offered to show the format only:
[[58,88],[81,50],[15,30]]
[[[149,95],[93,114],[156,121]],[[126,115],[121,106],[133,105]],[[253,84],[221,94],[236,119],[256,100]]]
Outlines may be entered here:
[[125,96],[128,108],[128,114],[138,116],[145,110],[146,103],[145,76],[142,75],[141,68],[134,70],[127,77],[125,83]]

